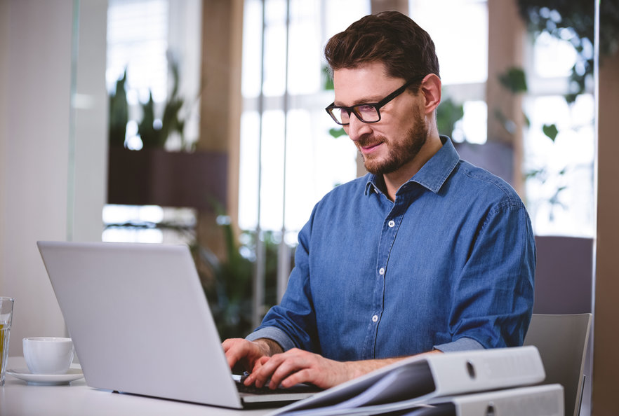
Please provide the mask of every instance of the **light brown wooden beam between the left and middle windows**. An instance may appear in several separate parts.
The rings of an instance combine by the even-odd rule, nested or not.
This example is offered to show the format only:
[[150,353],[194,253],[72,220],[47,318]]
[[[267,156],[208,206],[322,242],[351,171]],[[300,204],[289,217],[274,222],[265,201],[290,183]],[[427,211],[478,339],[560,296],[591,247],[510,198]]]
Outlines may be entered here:
[[[216,181],[226,181],[227,214],[238,224],[239,152],[241,132],[241,57],[243,0],[203,0],[199,150],[228,154],[227,170]],[[222,235],[212,212],[199,215],[201,244],[222,252]]]

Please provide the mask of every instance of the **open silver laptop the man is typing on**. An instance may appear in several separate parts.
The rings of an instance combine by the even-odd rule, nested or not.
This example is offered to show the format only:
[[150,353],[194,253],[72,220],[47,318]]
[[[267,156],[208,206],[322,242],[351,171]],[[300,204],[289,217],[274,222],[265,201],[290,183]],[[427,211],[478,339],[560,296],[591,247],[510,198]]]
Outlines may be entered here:
[[187,246],[36,244],[88,386],[225,408],[314,394],[239,393]]

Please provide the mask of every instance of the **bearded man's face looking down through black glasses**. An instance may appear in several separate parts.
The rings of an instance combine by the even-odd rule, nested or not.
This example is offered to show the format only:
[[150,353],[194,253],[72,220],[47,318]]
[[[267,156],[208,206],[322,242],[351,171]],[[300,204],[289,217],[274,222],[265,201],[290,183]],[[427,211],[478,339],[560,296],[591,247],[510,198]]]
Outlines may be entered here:
[[[404,83],[402,78],[385,75],[385,66],[380,62],[338,69],[333,73],[335,105],[379,102]],[[363,155],[368,172],[390,174],[413,161],[428,133],[422,100],[422,95],[407,89],[380,108],[378,123],[363,123],[351,114],[350,124],[344,130]]]

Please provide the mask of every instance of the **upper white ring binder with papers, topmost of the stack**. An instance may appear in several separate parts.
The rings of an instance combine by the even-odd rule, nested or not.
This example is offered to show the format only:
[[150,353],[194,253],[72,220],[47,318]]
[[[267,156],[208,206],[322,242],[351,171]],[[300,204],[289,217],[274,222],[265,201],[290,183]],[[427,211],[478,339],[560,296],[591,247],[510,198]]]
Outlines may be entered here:
[[431,410],[426,405],[437,397],[521,387],[544,378],[540,354],[533,346],[422,354],[280,408],[272,415],[380,415],[401,410],[425,415]]

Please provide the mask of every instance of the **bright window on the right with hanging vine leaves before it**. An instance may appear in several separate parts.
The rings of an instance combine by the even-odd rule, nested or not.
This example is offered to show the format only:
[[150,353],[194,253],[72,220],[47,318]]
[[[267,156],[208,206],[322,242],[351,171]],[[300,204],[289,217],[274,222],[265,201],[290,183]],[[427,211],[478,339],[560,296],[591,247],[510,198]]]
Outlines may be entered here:
[[[568,104],[572,44],[540,34],[528,50],[524,111],[526,202],[536,235],[594,235],[594,97],[592,85]],[[586,52],[586,51],[585,51]],[[592,50],[591,50],[592,53]],[[552,136],[551,126],[557,128]]]

